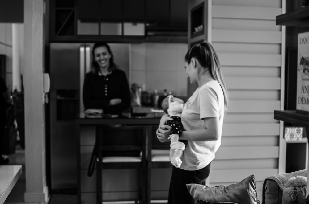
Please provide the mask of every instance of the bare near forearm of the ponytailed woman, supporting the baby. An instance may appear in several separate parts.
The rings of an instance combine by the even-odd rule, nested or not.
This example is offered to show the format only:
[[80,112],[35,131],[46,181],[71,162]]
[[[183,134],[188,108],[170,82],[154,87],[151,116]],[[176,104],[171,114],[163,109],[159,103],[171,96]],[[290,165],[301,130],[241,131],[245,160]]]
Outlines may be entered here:
[[182,131],[179,139],[189,141],[213,141],[219,139],[218,131],[206,128]]

